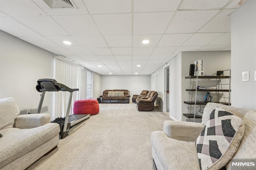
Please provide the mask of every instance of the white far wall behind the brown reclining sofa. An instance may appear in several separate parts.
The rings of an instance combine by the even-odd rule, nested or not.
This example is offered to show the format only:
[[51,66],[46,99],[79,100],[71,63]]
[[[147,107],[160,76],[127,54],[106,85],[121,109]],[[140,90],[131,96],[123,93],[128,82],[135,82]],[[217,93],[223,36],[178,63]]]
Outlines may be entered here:
[[104,90],[126,89],[132,95],[139,95],[142,90],[150,90],[150,75],[102,75],[101,94]]

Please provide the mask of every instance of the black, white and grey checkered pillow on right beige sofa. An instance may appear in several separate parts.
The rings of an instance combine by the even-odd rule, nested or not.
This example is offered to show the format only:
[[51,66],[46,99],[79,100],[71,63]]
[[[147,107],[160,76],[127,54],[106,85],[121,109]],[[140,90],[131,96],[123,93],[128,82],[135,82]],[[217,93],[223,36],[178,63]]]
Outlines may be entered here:
[[201,170],[216,170],[225,166],[236,153],[244,134],[240,117],[216,107],[196,139]]

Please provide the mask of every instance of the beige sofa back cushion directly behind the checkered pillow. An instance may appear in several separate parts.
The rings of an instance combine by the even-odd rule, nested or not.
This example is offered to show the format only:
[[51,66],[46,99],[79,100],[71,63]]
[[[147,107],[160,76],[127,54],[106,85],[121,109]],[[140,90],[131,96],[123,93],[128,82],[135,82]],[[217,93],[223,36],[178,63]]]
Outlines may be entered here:
[[220,107],[226,111],[229,111],[231,113],[233,113],[234,115],[240,117],[243,119],[244,115],[249,111],[249,109],[241,109],[241,108],[237,108],[237,107],[231,107],[228,105],[222,105],[220,103],[213,103],[213,102],[209,102],[207,103],[207,105],[204,107],[204,113],[202,116],[202,124],[206,124],[206,122],[210,119],[210,114],[212,113],[212,110],[215,107]]

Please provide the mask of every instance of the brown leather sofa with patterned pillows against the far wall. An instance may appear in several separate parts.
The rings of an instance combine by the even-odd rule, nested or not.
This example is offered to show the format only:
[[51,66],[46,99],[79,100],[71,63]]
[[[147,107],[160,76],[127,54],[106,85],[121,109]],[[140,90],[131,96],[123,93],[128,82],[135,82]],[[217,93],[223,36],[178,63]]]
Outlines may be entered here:
[[104,90],[100,95],[100,103],[130,103],[130,91]]

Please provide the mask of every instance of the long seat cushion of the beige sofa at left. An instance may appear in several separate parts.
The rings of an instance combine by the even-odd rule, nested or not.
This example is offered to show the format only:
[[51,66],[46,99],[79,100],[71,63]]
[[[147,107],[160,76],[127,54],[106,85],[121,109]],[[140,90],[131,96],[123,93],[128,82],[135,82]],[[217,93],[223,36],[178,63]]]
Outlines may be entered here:
[[58,135],[60,125],[48,123],[30,129],[5,128],[0,132],[3,134],[0,138],[0,168],[2,168]]

